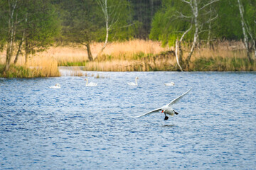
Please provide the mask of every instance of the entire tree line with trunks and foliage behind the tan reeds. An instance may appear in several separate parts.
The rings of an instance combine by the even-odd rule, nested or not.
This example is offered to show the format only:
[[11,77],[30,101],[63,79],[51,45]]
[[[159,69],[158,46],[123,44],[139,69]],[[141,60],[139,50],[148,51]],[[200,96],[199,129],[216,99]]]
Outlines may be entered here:
[[[90,44],[95,41],[105,42],[102,52],[109,41],[160,40],[176,47],[183,67],[201,44],[243,40],[252,61],[255,7],[256,0],[0,0],[0,48],[6,49],[5,71],[21,52],[27,62],[56,41],[85,45],[93,60]],[[185,61],[183,42],[190,45]]]

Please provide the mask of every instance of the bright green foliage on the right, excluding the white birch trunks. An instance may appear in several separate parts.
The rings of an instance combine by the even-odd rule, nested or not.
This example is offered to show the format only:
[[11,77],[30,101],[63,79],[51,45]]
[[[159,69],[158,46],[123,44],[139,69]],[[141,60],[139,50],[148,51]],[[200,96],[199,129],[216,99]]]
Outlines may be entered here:
[[[191,0],[193,1],[193,0]],[[256,1],[241,0],[244,8],[245,23],[256,37]],[[199,40],[241,40],[243,39],[240,11],[237,0],[215,1],[209,6],[210,0],[197,0]],[[202,8],[202,9],[201,9]],[[201,10],[200,10],[201,9]],[[163,0],[162,6],[154,16],[149,38],[162,40],[164,44],[174,45],[176,38],[193,28],[186,35],[186,41],[193,38],[193,11],[189,4],[181,0]],[[250,38],[251,39],[251,38]]]

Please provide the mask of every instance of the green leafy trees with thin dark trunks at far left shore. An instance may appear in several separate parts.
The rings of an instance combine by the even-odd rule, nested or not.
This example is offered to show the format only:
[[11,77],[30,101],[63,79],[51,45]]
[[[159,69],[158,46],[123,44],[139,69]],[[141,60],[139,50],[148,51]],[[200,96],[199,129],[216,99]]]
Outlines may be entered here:
[[0,7],[0,46],[6,47],[7,72],[21,51],[27,63],[29,54],[51,45],[60,32],[60,22],[49,0],[1,0]]

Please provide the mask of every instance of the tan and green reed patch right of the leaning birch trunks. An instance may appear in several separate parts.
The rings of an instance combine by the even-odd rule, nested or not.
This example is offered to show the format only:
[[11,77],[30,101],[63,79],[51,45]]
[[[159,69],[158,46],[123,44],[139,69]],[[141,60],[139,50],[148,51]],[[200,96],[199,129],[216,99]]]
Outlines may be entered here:
[[201,47],[191,57],[191,71],[245,72],[256,71],[250,63],[242,41],[217,41],[212,47]]

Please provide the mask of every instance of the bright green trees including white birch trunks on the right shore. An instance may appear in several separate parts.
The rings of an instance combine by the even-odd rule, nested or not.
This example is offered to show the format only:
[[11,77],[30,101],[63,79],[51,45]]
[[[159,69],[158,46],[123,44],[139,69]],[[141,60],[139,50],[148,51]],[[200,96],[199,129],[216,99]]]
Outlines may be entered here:
[[[152,21],[149,38],[175,46],[176,60],[183,67],[189,67],[196,47],[201,44],[210,47],[215,40],[243,40],[248,60],[253,62],[256,59],[256,1],[163,0]],[[181,47],[184,41],[190,44],[186,61],[183,61]]]

